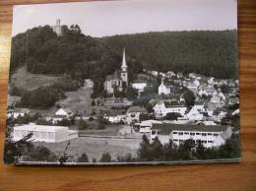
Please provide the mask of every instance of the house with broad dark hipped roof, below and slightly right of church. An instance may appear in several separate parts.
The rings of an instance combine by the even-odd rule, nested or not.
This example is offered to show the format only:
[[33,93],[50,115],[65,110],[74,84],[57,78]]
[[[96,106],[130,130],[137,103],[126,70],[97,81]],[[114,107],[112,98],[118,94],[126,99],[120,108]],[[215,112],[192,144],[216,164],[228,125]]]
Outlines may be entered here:
[[148,114],[144,106],[130,106],[126,111],[126,121],[130,125],[140,121],[141,114]]

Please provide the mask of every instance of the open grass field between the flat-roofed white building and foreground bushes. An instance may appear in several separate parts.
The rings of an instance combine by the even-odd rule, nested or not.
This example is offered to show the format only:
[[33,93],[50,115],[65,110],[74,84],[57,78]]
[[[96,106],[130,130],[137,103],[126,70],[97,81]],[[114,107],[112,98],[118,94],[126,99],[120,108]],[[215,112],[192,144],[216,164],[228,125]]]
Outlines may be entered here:
[[[61,143],[34,143],[35,146],[43,145],[59,156],[63,153],[68,141]],[[109,138],[91,138],[79,137],[70,141],[70,147],[67,151],[69,156],[74,156],[74,160],[78,159],[82,154],[86,153],[90,161],[92,159],[100,159],[103,153],[109,153],[112,159],[118,156],[125,156],[130,153],[137,156],[141,139],[109,139]]]

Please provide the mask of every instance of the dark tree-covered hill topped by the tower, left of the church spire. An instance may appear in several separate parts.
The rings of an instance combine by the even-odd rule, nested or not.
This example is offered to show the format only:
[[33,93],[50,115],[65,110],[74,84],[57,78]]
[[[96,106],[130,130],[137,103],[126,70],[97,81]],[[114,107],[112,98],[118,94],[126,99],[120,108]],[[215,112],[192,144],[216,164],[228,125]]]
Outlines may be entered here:
[[[14,36],[11,76],[26,66],[28,72],[36,75],[69,75],[77,81],[90,78],[95,82],[94,94],[100,95],[105,77],[119,69],[122,51],[111,51],[82,33],[77,25],[63,26],[62,31],[62,36],[57,36],[49,26],[44,26]],[[132,80],[134,74],[142,71],[142,65],[135,59],[127,59]]]

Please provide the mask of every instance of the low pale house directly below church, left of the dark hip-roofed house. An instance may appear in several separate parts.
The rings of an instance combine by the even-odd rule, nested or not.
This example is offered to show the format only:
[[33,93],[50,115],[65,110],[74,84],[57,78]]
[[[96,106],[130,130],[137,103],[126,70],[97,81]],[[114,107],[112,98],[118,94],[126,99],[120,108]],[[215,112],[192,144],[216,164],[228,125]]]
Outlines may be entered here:
[[103,111],[103,118],[110,123],[120,123],[126,121],[126,112],[121,109],[111,109]]

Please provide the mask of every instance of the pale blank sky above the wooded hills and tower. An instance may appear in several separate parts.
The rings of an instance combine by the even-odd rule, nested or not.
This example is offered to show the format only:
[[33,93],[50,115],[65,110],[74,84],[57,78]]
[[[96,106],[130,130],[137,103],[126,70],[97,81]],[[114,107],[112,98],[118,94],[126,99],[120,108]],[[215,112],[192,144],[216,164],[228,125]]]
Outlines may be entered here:
[[237,29],[236,0],[116,0],[83,3],[17,5],[13,35],[33,27],[79,25],[82,32],[101,37],[164,31],[223,31]]

